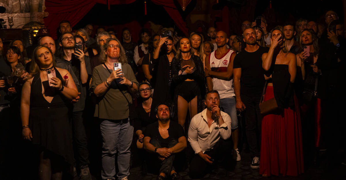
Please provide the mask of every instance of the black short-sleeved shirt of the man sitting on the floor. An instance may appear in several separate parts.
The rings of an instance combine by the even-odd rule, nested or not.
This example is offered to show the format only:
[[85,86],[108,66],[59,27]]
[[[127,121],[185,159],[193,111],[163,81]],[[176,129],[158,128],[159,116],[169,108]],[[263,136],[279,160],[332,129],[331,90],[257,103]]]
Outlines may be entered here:
[[152,124],[149,124],[143,134],[144,137],[157,139],[160,142],[162,148],[168,148],[168,144],[171,142],[172,139],[178,141],[180,137],[185,136],[183,127],[181,127],[177,122],[174,121],[170,121],[170,127],[168,128],[169,137],[166,139],[163,139],[161,137],[161,134],[158,131],[157,121]]

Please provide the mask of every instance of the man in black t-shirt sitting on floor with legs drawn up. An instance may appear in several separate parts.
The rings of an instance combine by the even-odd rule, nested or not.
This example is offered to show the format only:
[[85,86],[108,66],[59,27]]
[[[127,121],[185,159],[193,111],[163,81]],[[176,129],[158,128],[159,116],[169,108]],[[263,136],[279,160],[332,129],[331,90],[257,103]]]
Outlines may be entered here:
[[178,123],[170,121],[170,112],[166,103],[160,103],[155,108],[158,121],[149,124],[144,131],[144,149],[157,153],[158,159],[161,160],[158,180],[163,180],[168,175],[171,175],[173,180],[181,179],[174,170],[173,160],[175,153],[186,148],[186,138],[183,128]]

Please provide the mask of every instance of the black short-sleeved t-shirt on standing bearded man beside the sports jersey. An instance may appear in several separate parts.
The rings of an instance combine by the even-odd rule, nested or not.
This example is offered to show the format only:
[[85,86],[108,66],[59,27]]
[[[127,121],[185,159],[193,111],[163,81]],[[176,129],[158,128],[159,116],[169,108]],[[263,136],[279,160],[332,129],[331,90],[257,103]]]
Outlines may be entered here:
[[235,56],[233,68],[242,68],[240,94],[261,97],[265,84],[262,54],[266,52],[268,48],[260,46],[255,52],[247,52],[244,49]]

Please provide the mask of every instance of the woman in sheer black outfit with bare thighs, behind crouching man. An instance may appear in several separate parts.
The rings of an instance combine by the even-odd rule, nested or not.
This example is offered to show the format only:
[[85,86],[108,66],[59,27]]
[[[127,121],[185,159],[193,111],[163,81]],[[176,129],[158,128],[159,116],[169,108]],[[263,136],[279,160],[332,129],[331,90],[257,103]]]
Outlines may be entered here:
[[177,104],[178,123],[183,128],[185,128],[188,110],[190,119],[202,111],[202,97],[205,88],[202,61],[198,56],[190,53],[191,48],[188,38],[180,39],[179,50],[172,67],[173,82],[176,86],[174,102]]

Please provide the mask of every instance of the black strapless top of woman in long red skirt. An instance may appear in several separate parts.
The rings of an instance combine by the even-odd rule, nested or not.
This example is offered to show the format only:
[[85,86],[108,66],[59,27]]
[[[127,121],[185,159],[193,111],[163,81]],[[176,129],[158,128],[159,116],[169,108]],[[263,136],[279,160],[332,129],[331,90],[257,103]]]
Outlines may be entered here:
[[274,64],[272,74],[274,97],[280,109],[294,109],[294,91],[291,74],[286,64]]

